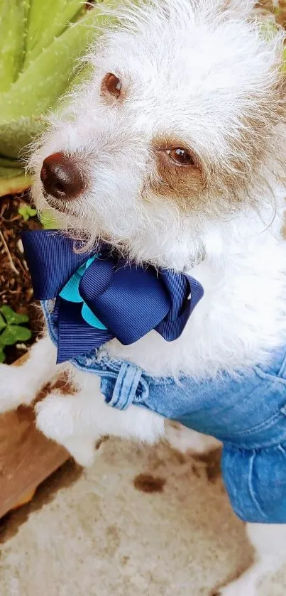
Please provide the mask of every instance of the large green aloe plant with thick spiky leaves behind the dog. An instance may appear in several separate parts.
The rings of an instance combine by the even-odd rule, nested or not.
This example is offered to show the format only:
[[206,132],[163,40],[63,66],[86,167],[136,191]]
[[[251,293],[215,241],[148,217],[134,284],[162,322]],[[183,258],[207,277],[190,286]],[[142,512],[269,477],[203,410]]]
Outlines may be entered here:
[[75,60],[110,21],[101,0],[0,0],[0,196],[29,185],[23,148],[44,128],[50,109],[84,73]]

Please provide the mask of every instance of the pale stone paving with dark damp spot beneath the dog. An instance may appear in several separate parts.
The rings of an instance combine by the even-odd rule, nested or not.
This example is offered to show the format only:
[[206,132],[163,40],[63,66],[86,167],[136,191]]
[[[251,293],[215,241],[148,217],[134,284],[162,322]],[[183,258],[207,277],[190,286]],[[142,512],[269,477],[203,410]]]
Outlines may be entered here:
[[[209,596],[252,557],[216,455],[113,439],[6,516],[0,542],[1,596]],[[285,593],[285,569],[260,591]]]

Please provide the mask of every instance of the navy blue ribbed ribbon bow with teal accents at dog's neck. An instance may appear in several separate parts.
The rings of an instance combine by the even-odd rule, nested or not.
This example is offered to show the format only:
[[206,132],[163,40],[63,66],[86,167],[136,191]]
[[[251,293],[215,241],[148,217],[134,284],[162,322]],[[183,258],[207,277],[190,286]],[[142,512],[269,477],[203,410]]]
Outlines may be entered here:
[[[204,295],[194,278],[130,264],[103,243],[87,254],[75,252],[75,241],[58,230],[23,232],[22,239],[35,298],[56,298],[57,362],[114,337],[132,344],[153,329],[176,340]],[[70,301],[65,298],[75,276],[79,300]]]

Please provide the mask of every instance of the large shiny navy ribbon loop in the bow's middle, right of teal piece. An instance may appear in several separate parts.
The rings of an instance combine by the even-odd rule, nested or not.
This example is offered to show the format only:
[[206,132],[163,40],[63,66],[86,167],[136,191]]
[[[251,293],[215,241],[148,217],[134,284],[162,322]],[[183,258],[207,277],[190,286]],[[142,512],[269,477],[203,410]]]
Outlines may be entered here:
[[167,316],[170,299],[155,269],[97,259],[79,286],[84,301],[123,344],[146,335]]

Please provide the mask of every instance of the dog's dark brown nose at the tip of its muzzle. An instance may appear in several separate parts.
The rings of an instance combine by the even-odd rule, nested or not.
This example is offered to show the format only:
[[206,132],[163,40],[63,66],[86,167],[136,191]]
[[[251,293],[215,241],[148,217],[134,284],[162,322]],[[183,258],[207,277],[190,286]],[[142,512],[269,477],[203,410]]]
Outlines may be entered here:
[[49,195],[56,199],[72,200],[82,193],[84,181],[72,158],[53,153],[43,161],[40,179]]

